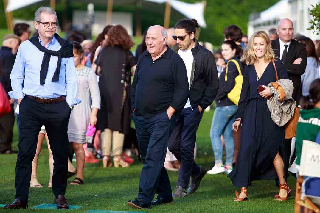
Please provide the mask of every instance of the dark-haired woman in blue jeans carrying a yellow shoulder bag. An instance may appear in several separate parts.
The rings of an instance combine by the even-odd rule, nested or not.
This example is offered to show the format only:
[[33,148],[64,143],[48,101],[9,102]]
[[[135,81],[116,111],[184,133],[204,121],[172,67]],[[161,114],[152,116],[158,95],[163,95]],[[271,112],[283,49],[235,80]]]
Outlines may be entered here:
[[[242,86],[243,64],[240,62],[242,48],[234,41],[224,41],[221,46],[226,67],[219,78],[219,91],[216,96],[217,107],[212,118],[210,137],[212,142],[215,164],[208,174],[218,174],[232,171],[234,141],[232,123],[236,119],[237,105]],[[240,82],[239,82],[240,81]],[[239,87],[240,86],[240,87]],[[223,147],[220,136],[223,135],[226,148],[226,163],[222,162]]]

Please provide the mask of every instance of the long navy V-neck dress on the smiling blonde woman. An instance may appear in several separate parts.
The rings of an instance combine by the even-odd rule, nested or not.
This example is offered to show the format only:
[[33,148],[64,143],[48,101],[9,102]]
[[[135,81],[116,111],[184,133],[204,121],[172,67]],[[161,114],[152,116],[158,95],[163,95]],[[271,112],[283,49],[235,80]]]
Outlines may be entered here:
[[[279,79],[287,79],[288,74],[281,61],[276,61]],[[236,166],[229,174],[234,186],[248,187],[253,180],[276,179],[273,160],[279,152],[285,161],[285,129],[277,126],[271,118],[264,99],[257,92],[259,85],[267,86],[276,81],[276,72],[270,62],[260,79],[254,65],[244,68],[244,80],[236,117],[242,118],[240,151]],[[286,165],[284,163],[284,165]],[[288,168],[284,168],[284,178]]]

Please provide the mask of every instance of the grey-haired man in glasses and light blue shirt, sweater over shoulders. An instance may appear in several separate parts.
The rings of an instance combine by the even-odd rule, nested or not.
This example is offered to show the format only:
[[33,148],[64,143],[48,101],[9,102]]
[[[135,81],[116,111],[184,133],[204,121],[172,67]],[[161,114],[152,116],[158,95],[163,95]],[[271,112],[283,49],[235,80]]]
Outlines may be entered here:
[[[68,209],[64,197],[68,172],[68,122],[76,99],[77,76],[72,44],[55,34],[56,12],[40,7],[34,26],[38,34],[23,42],[11,72],[11,98],[20,106],[16,199],[7,209],[28,207],[32,160],[44,125],[52,149],[52,190],[58,209]],[[81,115],[80,115],[81,116]]]

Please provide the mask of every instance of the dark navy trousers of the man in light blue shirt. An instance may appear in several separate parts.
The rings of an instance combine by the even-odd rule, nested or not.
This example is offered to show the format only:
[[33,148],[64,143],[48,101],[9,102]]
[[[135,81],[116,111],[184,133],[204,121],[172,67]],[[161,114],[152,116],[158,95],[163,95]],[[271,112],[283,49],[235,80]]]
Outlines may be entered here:
[[24,97],[20,102],[19,153],[16,164],[16,198],[28,201],[32,161],[36,154],[38,134],[45,126],[53,155],[52,190],[64,195],[68,173],[68,123],[70,107],[66,101],[37,103]]

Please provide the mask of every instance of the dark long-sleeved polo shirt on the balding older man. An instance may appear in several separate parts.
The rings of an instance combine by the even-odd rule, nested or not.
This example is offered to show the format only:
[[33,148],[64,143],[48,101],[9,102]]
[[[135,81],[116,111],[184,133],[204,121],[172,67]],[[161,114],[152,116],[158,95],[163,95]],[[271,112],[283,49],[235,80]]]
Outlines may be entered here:
[[189,97],[186,66],[178,53],[167,47],[152,60],[148,51],[139,58],[131,86],[132,112],[151,118],[169,106],[179,112]]

